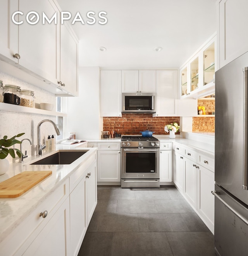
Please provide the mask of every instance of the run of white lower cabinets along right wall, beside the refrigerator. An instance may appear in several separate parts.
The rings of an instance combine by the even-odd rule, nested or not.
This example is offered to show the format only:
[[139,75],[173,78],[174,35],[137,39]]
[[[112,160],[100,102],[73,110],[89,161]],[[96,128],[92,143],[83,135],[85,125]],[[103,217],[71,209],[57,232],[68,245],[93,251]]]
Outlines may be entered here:
[[214,157],[175,143],[173,182],[214,234]]

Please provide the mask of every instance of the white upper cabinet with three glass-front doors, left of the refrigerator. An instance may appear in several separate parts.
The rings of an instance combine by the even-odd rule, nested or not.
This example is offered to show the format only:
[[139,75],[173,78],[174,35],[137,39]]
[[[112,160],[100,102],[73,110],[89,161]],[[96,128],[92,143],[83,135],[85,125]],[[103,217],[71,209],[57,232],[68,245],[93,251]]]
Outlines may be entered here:
[[215,92],[216,35],[180,68],[180,97],[198,99]]

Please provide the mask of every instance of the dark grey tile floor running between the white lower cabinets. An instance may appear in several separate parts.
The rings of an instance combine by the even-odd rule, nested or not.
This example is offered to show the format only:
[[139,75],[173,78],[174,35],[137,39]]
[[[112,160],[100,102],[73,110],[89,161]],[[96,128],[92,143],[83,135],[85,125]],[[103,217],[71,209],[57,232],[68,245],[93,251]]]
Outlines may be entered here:
[[78,256],[214,256],[214,235],[174,186],[98,186]]

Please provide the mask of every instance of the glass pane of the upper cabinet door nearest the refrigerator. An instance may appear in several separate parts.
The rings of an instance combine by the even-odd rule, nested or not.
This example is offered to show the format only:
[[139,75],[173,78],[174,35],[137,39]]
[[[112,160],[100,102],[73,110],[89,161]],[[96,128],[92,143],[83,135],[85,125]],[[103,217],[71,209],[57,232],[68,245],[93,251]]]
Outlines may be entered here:
[[203,52],[203,65],[204,65],[204,78],[203,86],[207,85],[215,79],[215,63],[214,63],[214,43],[212,43],[206,50]]

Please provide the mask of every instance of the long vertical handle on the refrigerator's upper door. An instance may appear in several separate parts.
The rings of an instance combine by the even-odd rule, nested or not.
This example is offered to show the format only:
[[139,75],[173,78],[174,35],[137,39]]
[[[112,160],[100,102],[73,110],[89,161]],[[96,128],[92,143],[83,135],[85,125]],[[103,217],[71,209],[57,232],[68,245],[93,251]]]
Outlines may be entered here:
[[248,173],[247,173],[247,146],[248,146],[248,142],[247,142],[247,84],[248,84],[248,67],[244,67],[243,68],[243,76],[244,76],[244,146],[243,146],[243,186],[242,188],[244,190],[248,190]]

